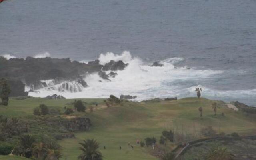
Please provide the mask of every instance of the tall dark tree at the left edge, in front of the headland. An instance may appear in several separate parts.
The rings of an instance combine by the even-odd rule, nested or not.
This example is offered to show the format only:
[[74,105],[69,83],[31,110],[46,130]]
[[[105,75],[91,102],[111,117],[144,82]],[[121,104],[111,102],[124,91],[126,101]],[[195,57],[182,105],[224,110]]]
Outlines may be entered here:
[[2,100],[2,105],[8,106],[9,95],[11,93],[10,86],[5,78],[0,80],[0,98]]

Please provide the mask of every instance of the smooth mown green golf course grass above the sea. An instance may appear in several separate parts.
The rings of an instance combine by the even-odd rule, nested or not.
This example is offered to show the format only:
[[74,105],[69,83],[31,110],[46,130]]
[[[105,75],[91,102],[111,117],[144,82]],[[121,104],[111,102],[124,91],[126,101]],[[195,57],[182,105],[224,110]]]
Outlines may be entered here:
[[[104,105],[103,99],[82,99],[85,102],[98,102]],[[9,106],[0,106],[0,114],[22,117],[31,115],[39,104],[46,104],[62,109],[74,100],[46,100],[28,98],[17,100],[12,98]],[[80,154],[79,142],[86,138],[95,138],[100,142],[100,150],[104,160],[156,160],[148,154],[149,148],[141,148],[136,140],[155,136],[158,140],[163,130],[174,130],[183,133],[186,139],[200,138],[200,129],[213,126],[217,133],[255,134],[256,116],[230,110],[218,102],[217,116],[212,110],[212,100],[201,98],[184,98],[161,102],[125,102],[119,106],[94,110],[86,113],[93,127],[88,132],[76,133],[76,138],[59,141],[62,146],[62,160],[76,160]],[[203,107],[203,118],[199,118],[198,107]],[[224,116],[222,115],[224,114]],[[128,146],[130,142],[134,146]],[[106,146],[106,149],[103,149]],[[119,149],[122,147],[122,150]],[[0,157],[1,158],[1,157]],[[1,160],[1,159],[0,159]]]

